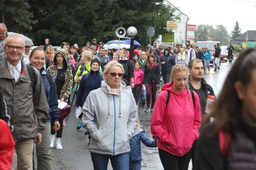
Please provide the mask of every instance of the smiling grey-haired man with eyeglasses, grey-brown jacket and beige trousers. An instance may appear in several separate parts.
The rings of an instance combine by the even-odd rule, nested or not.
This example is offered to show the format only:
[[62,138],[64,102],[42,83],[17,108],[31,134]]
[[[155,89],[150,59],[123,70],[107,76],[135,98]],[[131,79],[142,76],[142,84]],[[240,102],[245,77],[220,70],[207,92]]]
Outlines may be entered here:
[[8,36],[4,52],[6,60],[0,63],[0,87],[14,126],[17,169],[32,170],[33,142],[39,145],[42,141],[49,108],[40,72],[21,60],[24,39],[18,34]]

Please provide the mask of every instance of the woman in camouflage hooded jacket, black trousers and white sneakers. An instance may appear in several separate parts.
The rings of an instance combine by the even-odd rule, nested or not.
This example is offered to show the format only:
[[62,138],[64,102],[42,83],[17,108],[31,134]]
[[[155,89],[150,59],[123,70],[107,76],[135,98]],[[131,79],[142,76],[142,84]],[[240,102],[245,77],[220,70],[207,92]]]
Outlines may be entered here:
[[[68,103],[68,99],[72,90],[73,75],[72,69],[68,64],[66,50],[59,49],[55,52],[53,65],[48,67],[47,70],[51,73],[55,81],[58,99],[60,102],[62,101]],[[62,149],[60,138],[62,137],[63,120],[59,120],[59,123],[60,129],[58,131],[51,129],[51,143],[54,143],[55,133],[57,132],[56,137],[58,139],[56,140],[56,149]]]

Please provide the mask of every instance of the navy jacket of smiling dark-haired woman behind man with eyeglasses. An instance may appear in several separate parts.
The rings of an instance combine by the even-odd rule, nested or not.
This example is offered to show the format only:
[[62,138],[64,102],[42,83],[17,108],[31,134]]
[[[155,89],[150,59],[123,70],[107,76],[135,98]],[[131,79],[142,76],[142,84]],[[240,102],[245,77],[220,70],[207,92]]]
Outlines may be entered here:
[[49,106],[49,115],[46,122],[51,122],[51,118],[53,121],[58,121],[60,112],[58,111],[58,96],[55,87],[55,81],[51,75],[51,84],[49,84],[46,75],[47,73],[45,72],[44,68],[41,69],[40,73],[44,86],[45,96]]

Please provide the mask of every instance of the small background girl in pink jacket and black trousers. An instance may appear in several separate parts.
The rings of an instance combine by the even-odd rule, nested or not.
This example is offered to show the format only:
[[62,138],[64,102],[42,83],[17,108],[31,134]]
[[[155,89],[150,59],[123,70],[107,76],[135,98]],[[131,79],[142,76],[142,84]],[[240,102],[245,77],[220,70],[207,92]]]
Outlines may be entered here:
[[133,69],[134,74],[134,87],[131,89],[132,94],[135,98],[136,104],[138,106],[139,94],[141,90],[141,84],[143,80],[143,71],[141,70],[140,62],[135,63],[135,68]]

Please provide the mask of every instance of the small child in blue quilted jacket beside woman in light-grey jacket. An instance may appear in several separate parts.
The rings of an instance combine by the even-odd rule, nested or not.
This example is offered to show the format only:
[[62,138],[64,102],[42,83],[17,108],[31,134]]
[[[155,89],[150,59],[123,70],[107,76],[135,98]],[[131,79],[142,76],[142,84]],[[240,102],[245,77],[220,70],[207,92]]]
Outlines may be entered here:
[[144,134],[145,131],[141,129],[140,119],[138,117],[137,127],[129,140],[131,151],[129,153],[129,170],[141,169],[141,147],[140,141],[144,143],[146,147],[156,148],[156,140],[150,140]]

